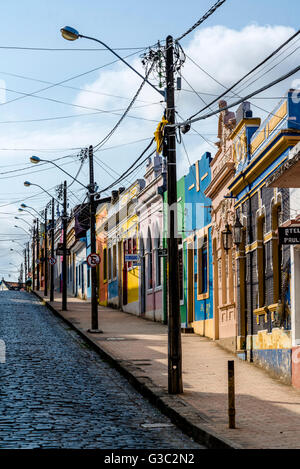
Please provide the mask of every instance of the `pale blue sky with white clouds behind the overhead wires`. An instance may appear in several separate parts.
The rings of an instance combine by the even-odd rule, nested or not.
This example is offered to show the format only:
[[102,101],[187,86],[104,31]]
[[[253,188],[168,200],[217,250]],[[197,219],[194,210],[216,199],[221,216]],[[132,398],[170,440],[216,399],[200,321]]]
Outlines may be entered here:
[[[0,30],[1,277],[8,278],[10,274],[11,279],[17,278],[22,261],[20,252],[29,239],[24,229],[29,228],[27,223],[31,224],[33,217],[20,214],[18,207],[24,202],[39,211],[49,201],[49,196],[38,187],[24,187],[24,181],[30,180],[54,194],[55,186],[65,177],[52,165],[33,167],[29,157],[34,154],[51,160],[71,154],[72,157],[62,160],[63,167],[75,175],[80,148],[95,145],[105,137],[141,83],[125,65],[112,64],[114,56],[99,50],[102,46],[86,39],[65,41],[60,28],[73,26],[84,35],[101,39],[124,57],[131,54],[127,60],[144,73],[143,50],[158,40],[163,42],[168,34],[175,38],[180,36],[213,3],[214,0],[3,2]],[[176,91],[178,118],[188,117],[202,108],[288,39],[298,29],[299,15],[300,3],[296,0],[227,0],[181,41],[187,58],[182,68],[182,90]],[[238,96],[244,96],[298,65],[298,47],[299,42],[295,40],[261,72],[263,76],[258,74],[240,85],[235,90]],[[73,78],[78,75],[81,76]],[[299,81],[299,75],[251,100],[253,114],[265,119],[288,88],[300,87],[297,79]],[[68,81],[64,86],[51,86],[65,80]],[[152,75],[151,80],[158,84],[156,76]],[[34,96],[24,96],[33,92]],[[228,101],[232,100],[229,96]],[[110,184],[143,151],[163,110],[162,97],[145,85],[129,117],[95,155],[96,181],[100,189]],[[178,146],[178,176],[185,174],[189,164],[205,151],[210,151],[212,156],[216,153],[217,123],[217,117],[212,117],[195,124],[186,134],[186,151],[182,145]],[[143,174],[142,167],[125,184],[129,185]],[[79,179],[87,183],[86,165]],[[75,183],[70,189],[69,209],[85,197],[80,185]],[[23,220],[16,220],[15,216]]]

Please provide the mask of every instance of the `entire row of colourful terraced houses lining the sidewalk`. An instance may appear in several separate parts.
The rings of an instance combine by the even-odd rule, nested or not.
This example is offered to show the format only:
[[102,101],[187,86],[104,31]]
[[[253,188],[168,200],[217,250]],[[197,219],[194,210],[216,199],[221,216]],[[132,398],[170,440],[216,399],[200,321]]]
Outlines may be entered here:
[[[300,250],[278,230],[300,227],[298,101],[289,90],[264,122],[248,102],[234,113],[220,101],[217,151],[178,180],[177,206],[167,205],[166,163],[156,154],[142,179],[99,203],[96,233],[99,303],[166,323],[168,211],[176,210],[182,330],[300,387]],[[58,220],[56,244],[61,233]],[[67,244],[68,292],[88,299],[87,204],[74,208]],[[61,289],[60,257],[55,269]]]

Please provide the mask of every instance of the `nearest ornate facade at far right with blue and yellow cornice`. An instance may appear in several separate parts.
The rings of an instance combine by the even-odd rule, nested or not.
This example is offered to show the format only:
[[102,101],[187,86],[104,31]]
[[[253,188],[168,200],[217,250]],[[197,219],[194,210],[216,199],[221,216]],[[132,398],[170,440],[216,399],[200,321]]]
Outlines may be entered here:
[[238,336],[247,358],[292,382],[291,249],[278,228],[292,219],[287,188],[266,185],[300,141],[293,91],[267,119],[244,119],[231,138],[236,175],[229,189],[244,227],[238,252]]

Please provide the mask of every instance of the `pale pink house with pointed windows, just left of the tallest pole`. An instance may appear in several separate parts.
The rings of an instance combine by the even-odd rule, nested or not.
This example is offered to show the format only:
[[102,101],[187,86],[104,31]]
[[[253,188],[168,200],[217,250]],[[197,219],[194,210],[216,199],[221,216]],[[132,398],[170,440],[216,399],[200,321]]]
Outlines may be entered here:
[[139,305],[140,315],[163,321],[163,192],[166,172],[161,156],[149,158],[144,176],[146,185],[138,194],[139,217]]

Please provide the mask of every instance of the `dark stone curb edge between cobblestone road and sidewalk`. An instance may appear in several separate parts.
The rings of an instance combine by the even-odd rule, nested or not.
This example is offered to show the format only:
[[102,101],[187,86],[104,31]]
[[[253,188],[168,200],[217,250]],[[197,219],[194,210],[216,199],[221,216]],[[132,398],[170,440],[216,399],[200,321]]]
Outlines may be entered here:
[[[155,405],[164,415],[179,427],[185,434],[192,437],[196,442],[209,449],[243,449],[237,443],[224,438],[208,428],[205,417],[197,409],[185,402],[179,396],[170,395],[161,387],[155,385],[151,378],[142,375],[140,369],[133,365],[130,360],[121,360],[104,350],[99,343],[95,342],[87,333],[78,328],[69,319],[65,318],[48,301],[45,301],[38,293],[33,293],[47,308],[62,319],[69,327],[75,330],[81,338],[87,342],[97,353],[113,368],[124,376],[129,383],[151,404]],[[201,422],[202,420],[202,422]],[[199,423],[201,422],[201,423]]]

